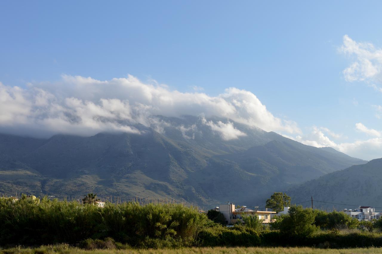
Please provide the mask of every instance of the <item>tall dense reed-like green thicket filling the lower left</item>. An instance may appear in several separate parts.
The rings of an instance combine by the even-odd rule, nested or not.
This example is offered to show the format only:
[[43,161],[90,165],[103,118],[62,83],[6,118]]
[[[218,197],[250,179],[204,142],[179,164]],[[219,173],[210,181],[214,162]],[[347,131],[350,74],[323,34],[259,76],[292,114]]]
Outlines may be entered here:
[[209,220],[194,207],[136,202],[92,204],[0,199],[0,245],[77,244],[112,237],[132,246],[192,245]]

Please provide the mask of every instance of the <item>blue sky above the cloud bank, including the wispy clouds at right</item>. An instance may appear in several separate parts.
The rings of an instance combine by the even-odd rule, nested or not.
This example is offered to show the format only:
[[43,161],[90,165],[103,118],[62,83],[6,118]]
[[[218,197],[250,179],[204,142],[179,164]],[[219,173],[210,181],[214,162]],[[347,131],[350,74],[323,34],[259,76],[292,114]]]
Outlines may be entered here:
[[[353,156],[382,157],[381,5],[3,1],[0,82],[29,89],[30,84],[65,86],[63,75],[105,81],[131,74],[142,83],[166,84],[169,91],[199,87],[197,92],[211,97],[236,87],[252,92],[276,118],[293,121],[301,130],[279,133],[317,146],[330,144],[326,137]],[[345,35],[366,53],[341,50]],[[366,58],[374,72],[362,71]],[[358,71],[353,68],[346,76],[343,71],[354,62]],[[340,147],[371,139],[357,149]]]

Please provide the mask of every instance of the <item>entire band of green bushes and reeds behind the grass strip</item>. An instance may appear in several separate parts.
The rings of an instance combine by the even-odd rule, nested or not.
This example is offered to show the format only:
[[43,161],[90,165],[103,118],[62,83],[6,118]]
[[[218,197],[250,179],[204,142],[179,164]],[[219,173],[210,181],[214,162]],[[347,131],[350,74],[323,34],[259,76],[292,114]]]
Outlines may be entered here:
[[[257,217],[227,228],[196,208],[136,202],[92,204],[23,198],[0,199],[0,246],[67,243],[84,249],[174,248],[181,246],[382,246],[381,220],[351,220],[342,212],[291,207],[271,229]],[[358,225],[358,229],[354,228]],[[318,230],[321,228],[322,230]],[[345,229],[346,228],[346,229]],[[345,229],[345,230],[344,230]]]

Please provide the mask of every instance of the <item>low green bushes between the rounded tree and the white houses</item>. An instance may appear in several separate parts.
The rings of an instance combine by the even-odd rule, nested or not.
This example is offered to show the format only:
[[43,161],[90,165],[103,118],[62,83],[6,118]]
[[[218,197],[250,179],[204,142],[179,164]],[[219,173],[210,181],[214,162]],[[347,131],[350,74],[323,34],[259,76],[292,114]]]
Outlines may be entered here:
[[321,229],[353,229],[357,228],[359,222],[344,212],[333,211],[327,213],[321,210],[313,210],[315,214],[314,225]]

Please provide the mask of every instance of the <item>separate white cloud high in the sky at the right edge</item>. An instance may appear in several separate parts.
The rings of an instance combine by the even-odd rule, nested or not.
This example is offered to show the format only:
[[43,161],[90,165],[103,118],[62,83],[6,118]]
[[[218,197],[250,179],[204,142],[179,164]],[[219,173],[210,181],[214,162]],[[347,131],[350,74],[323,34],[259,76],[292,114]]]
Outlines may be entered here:
[[346,81],[378,81],[381,80],[382,49],[376,49],[373,44],[356,42],[348,35],[343,36],[342,53],[354,58],[343,75]]

